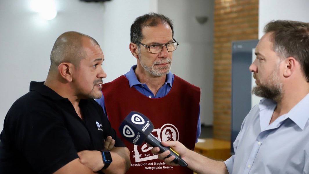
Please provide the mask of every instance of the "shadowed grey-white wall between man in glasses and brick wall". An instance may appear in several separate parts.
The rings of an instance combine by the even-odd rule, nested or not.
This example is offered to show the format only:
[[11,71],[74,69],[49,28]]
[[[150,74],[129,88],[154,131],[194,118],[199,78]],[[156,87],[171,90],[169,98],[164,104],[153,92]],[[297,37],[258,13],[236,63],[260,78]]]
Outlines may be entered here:
[[[213,124],[213,31],[214,2],[205,0],[159,0],[158,12],[173,20],[174,38],[171,72],[201,88],[201,123]],[[208,16],[205,24],[195,16]]]

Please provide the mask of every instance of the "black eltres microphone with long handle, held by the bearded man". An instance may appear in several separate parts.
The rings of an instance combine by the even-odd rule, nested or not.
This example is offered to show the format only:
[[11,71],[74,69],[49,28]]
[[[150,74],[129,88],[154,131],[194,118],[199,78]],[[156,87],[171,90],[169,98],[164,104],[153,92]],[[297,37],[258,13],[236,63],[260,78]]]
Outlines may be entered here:
[[153,129],[154,125],[151,121],[145,115],[136,111],[131,111],[119,126],[119,132],[130,143],[140,146],[143,142],[146,142],[153,147],[159,147],[161,153],[170,150],[171,153],[166,158],[173,155],[175,156],[174,163],[187,167],[188,164],[181,159],[179,154],[172,148],[163,146],[161,141],[151,134]]

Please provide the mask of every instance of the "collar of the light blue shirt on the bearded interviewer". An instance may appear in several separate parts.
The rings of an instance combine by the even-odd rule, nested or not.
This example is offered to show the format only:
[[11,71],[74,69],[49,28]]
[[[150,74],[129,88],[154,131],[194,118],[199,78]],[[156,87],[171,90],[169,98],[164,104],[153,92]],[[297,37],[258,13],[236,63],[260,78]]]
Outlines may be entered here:
[[[290,118],[299,128],[304,129],[309,119],[309,94],[307,94],[300,102],[298,102],[287,114],[286,117]],[[260,111],[269,108],[274,110],[277,103],[271,99],[263,98],[259,103]]]

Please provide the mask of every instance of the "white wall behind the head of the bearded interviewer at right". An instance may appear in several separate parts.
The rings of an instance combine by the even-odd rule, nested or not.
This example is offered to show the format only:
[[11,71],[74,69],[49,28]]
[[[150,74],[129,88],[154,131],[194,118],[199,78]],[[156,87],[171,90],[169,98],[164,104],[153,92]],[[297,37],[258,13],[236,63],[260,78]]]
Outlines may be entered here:
[[[264,35],[263,28],[271,20],[298,20],[309,22],[308,0],[260,0],[259,39]],[[252,81],[254,81],[252,77]],[[253,84],[255,85],[255,83]],[[258,104],[259,97],[252,95],[252,106]]]

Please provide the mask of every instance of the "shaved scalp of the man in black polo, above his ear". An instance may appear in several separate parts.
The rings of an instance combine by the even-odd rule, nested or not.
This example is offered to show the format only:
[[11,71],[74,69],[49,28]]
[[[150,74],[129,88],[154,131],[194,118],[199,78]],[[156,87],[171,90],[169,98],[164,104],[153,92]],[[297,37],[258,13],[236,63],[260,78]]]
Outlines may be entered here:
[[94,45],[99,45],[94,38],[83,33],[69,31],[61,34],[55,41],[50,54],[51,64],[49,71],[57,70],[57,67],[62,62],[69,62],[78,67],[81,59],[84,59],[87,55],[82,45],[82,40],[85,37],[91,39]]

